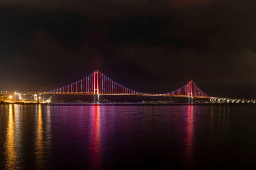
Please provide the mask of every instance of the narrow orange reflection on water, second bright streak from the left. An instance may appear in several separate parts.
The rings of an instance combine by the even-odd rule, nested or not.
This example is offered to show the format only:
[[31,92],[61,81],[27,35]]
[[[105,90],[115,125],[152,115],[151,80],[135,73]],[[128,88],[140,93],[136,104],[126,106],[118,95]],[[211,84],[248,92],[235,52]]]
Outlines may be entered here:
[[35,162],[38,168],[43,167],[43,140],[44,140],[44,130],[43,130],[43,120],[42,120],[42,110],[41,105],[38,105],[38,122],[36,130],[36,140],[35,140]]

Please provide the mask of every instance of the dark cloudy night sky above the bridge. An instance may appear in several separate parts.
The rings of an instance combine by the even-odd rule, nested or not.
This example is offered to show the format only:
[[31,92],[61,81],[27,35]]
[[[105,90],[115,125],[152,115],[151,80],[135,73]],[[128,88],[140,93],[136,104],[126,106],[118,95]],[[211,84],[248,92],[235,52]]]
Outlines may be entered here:
[[0,90],[99,70],[145,93],[193,80],[209,96],[256,98],[256,2],[223,1],[1,0]]

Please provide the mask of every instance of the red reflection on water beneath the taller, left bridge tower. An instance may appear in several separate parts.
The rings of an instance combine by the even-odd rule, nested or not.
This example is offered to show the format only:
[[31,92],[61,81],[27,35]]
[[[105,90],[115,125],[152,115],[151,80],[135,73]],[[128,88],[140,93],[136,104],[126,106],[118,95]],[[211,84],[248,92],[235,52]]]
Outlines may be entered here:
[[93,169],[100,169],[101,146],[100,146],[100,106],[93,105],[93,127],[92,127],[92,161]]

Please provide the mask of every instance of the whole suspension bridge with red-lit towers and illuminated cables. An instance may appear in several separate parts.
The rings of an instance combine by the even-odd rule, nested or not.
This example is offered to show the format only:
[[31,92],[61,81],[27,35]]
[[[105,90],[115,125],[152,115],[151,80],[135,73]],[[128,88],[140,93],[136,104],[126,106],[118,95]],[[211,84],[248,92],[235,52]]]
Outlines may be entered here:
[[[0,95],[18,94],[19,100],[22,100],[22,95],[32,95],[35,101],[38,101],[39,95],[93,95],[94,102],[99,103],[100,95],[127,95],[127,96],[169,96],[169,97],[188,97],[189,102],[193,102],[193,98],[209,99],[211,103],[255,103],[252,99],[231,99],[223,97],[212,97],[205,94],[193,81],[189,81],[183,87],[165,94],[148,94],[133,91],[119,83],[111,80],[99,71],[93,71],[86,77],[79,79],[69,85],[57,88],[47,92],[26,92],[26,91],[0,91]],[[97,98],[97,99],[96,99]]]

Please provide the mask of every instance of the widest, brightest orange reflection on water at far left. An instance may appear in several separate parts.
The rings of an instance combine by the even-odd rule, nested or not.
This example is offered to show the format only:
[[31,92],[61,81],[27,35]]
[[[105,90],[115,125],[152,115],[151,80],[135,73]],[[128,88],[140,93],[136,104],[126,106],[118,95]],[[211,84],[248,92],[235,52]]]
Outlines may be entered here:
[[15,144],[15,126],[13,119],[13,105],[9,105],[8,124],[6,130],[5,162],[6,169],[14,170],[17,168],[17,153]]

